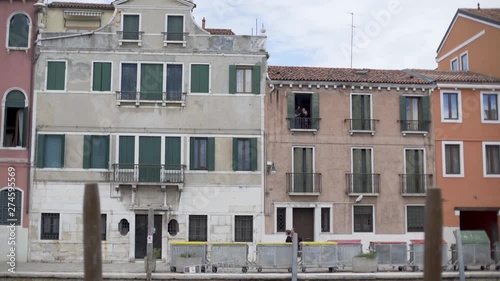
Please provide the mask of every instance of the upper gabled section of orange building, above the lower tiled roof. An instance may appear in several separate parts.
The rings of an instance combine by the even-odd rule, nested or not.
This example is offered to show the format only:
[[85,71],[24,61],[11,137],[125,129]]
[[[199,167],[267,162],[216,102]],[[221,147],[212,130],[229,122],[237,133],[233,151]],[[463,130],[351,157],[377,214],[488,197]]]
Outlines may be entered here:
[[458,9],[437,50],[439,70],[500,77],[500,9]]

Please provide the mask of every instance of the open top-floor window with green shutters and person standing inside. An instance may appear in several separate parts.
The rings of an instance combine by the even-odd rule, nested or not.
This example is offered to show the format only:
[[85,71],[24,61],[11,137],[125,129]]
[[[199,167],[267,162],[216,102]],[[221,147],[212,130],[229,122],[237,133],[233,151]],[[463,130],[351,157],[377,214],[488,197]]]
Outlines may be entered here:
[[288,128],[291,130],[319,129],[319,95],[288,93]]

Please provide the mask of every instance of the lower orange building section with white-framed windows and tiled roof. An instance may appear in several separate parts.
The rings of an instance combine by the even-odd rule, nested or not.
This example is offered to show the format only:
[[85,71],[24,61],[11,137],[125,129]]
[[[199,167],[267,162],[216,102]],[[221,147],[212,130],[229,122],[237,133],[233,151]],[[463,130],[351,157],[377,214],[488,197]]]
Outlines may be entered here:
[[500,232],[500,78],[464,71],[415,70],[431,95],[436,185],[443,196],[444,239],[453,231]]

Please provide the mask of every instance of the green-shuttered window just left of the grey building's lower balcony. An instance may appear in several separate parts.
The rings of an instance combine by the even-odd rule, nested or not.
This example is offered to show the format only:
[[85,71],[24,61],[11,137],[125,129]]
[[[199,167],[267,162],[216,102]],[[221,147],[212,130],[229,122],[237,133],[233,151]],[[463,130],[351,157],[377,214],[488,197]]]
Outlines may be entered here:
[[83,137],[83,168],[109,168],[109,136]]

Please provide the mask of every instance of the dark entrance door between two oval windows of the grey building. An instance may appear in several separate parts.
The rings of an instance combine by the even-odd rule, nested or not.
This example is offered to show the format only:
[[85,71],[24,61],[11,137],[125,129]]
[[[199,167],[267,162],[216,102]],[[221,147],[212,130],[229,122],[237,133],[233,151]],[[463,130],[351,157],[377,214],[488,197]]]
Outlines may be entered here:
[[[155,215],[153,234],[153,248],[160,249],[161,255],[161,215]],[[135,258],[144,259],[146,256],[148,239],[148,215],[135,215]],[[161,258],[161,257],[160,257]]]

